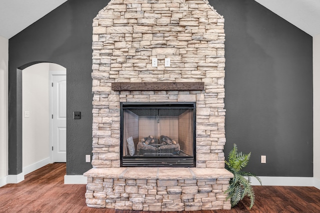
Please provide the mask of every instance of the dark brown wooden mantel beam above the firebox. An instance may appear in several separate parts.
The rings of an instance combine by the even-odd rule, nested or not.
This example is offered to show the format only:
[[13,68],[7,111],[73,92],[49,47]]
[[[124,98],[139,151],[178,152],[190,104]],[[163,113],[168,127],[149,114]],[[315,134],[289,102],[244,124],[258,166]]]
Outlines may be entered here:
[[204,82],[113,82],[113,91],[204,90]]

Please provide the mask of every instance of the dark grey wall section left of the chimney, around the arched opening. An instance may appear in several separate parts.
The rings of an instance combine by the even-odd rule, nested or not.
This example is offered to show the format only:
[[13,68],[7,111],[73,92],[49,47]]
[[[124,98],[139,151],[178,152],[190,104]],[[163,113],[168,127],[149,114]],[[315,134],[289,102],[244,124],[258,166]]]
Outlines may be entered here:
[[[22,172],[19,163],[22,155],[19,105],[21,91],[16,86],[19,85],[15,80],[16,68],[25,68],[30,65],[27,63],[34,61],[57,63],[66,68],[66,172],[67,175],[81,175],[91,168],[90,163],[85,163],[85,155],[92,151],[92,19],[107,2],[68,0],[9,39],[9,174]],[[20,74],[18,78],[19,76]],[[81,112],[80,120],[72,119],[73,111]]]

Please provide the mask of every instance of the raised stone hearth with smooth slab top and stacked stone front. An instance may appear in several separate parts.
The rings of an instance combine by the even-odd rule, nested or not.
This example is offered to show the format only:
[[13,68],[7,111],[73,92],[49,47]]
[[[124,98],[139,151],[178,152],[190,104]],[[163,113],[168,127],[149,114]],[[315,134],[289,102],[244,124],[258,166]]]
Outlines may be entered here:
[[[95,208],[135,211],[230,209],[223,193],[232,174],[224,169],[91,169],[87,204]],[[99,199],[97,199],[99,198]]]

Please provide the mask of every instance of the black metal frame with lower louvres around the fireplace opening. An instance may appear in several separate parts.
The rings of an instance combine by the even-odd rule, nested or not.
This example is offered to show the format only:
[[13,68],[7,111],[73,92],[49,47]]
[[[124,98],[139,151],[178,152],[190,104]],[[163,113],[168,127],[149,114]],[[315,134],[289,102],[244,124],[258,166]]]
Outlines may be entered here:
[[[196,167],[195,102],[120,102],[120,167]],[[193,156],[123,156],[123,109],[193,109]],[[148,164],[146,164],[148,162]]]

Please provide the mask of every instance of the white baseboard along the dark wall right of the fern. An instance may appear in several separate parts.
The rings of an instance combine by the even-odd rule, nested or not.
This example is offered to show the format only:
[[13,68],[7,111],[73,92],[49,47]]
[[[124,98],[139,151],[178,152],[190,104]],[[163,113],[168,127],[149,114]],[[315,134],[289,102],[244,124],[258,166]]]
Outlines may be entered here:
[[[313,187],[315,178],[307,177],[259,177],[262,186],[296,186],[296,187]],[[320,181],[319,181],[320,182]],[[260,183],[251,177],[251,185],[259,186]]]

